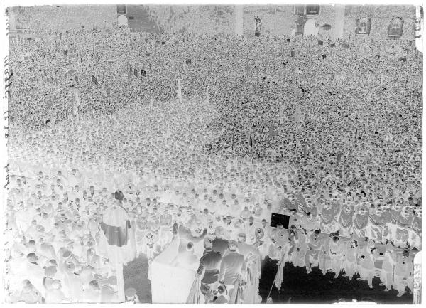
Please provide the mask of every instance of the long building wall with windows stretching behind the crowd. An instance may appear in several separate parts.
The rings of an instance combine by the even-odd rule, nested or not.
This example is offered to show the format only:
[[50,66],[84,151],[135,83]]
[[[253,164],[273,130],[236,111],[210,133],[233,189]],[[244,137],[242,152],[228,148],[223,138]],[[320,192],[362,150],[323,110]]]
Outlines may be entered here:
[[253,36],[258,17],[260,37],[314,35],[414,41],[420,33],[416,7],[409,5],[31,6],[9,12],[13,15],[9,15],[14,24],[11,29],[34,31],[104,27],[126,19],[133,31]]

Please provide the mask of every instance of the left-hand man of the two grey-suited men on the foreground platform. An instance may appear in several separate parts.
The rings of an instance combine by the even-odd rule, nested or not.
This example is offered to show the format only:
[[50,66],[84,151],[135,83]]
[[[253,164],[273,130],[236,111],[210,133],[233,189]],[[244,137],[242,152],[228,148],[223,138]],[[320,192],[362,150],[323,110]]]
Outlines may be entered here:
[[204,255],[200,259],[197,274],[201,275],[201,292],[207,294],[212,284],[219,280],[220,262],[222,254],[212,249],[213,243],[209,238],[204,239]]

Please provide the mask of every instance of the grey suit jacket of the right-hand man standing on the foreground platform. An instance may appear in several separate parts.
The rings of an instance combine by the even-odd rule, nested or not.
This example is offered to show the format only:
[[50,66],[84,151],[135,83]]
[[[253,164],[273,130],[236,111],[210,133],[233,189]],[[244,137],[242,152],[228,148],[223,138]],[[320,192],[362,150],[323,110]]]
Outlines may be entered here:
[[234,285],[245,270],[244,255],[240,255],[236,251],[229,251],[222,257],[222,262],[220,263],[220,280],[225,285]]

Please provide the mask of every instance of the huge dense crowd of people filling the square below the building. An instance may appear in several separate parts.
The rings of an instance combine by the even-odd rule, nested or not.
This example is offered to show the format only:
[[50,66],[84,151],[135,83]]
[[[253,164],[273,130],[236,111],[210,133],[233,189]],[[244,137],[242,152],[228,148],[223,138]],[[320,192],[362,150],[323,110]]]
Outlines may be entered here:
[[97,243],[116,190],[150,260],[182,224],[263,265],[412,292],[422,57],[405,41],[321,42],[123,28],[13,41],[11,301],[114,301]]

